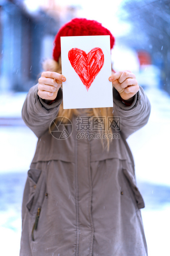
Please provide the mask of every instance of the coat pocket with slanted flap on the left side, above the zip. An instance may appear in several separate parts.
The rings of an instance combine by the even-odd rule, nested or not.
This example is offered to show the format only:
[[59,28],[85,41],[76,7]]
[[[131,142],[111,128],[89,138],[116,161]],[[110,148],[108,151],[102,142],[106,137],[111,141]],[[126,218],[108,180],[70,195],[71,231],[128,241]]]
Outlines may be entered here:
[[41,207],[46,194],[45,172],[39,169],[30,169],[28,171],[28,181],[30,193],[26,207],[31,215],[37,212],[37,206]]

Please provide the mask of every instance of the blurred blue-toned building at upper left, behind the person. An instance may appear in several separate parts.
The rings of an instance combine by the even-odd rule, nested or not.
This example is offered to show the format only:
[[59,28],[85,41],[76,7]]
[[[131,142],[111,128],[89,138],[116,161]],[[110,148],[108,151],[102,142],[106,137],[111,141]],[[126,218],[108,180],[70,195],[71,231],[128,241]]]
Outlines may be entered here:
[[31,8],[29,1],[0,0],[1,92],[28,91],[37,83],[58,29],[76,15],[74,7],[59,7],[55,0],[41,2]]

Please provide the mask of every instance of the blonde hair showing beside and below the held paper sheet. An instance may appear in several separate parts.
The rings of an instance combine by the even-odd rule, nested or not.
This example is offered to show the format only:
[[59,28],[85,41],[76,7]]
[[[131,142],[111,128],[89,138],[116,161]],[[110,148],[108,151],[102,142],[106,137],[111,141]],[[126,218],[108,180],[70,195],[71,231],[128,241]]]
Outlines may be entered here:
[[[62,73],[62,67],[61,67],[61,56],[59,57],[58,62],[56,62],[54,59],[46,59],[43,63],[42,63],[42,67],[45,71],[53,71],[53,72],[57,72],[57,73]],[[92,109],[86,109],[85,113],[89,116],[95,116],[95,117],[106,117],[106,127],[109,127],[109,123],[108,123],[108,119],[107,117],[113,116],[113,108],[112,107],[106,107],[106,108],[92,108]],[[78,109],[63,109],[63,103],[60,104],[60,108],[58,111],[57,116],[64,116],[67,117],[67,119],[72,119],[72,116],[78,116],[80,114],[80,112],[78,111]],[[65,120],[67,120],[65,119]],[[112,134],[112,129],[109,127],[108,129],[106,129],[105,131],[107,134],[111,133]],[[104,131],[101,131],[101,133],[104,133]],[[112,136],[110,136],[112,137]],[[107,147],[107,149],[109,150],[109,145],[110,145],[110,140],[107,136],[107,145],[105,147]],[[103,139],[101,139],[101,143],[102,143],[102,147],[104,148],[104,141]]]

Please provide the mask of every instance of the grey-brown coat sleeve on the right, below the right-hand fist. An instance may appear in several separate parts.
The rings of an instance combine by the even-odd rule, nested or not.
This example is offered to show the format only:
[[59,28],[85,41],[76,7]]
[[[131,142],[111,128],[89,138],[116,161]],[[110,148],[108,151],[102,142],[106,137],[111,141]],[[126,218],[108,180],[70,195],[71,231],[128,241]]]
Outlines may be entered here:
[[149,119],[151,105],[142,87],[129,107],[120,101],[119,93],[113,88],[113,102],[114,116],[120,118],[119,130],[125,138],[145,126]]

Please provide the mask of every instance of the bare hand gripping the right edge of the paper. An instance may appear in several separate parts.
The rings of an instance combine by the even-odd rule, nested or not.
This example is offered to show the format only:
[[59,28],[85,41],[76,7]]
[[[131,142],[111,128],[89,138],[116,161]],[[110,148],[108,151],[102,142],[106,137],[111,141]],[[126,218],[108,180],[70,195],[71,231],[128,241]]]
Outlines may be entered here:
[[109,77],[109,81],[112,81],[113,86],[123,100],[132,100],[139,90],[136,76],[129,70],[114,73]]

